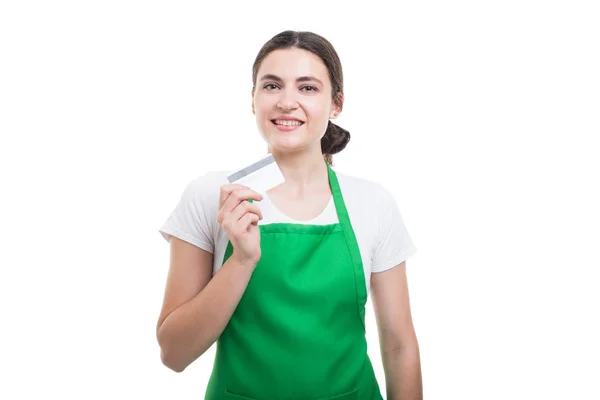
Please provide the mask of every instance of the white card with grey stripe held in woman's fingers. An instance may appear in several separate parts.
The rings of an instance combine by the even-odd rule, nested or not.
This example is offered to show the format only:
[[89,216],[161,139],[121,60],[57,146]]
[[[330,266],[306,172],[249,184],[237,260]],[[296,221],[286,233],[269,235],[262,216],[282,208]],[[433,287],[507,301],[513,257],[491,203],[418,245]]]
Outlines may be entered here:
[[260,194],[285,182],[272,154],[232,173],[227,180],[229,183],[247,186]]

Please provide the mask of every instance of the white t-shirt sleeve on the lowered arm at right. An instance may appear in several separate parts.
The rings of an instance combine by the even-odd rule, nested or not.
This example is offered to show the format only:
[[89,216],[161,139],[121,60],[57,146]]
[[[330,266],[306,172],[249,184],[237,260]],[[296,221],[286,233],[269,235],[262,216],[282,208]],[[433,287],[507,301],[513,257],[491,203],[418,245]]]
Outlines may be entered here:
[[379,229],[371,272],[383,272],[406,261],[417,252],[394,196],[380,187]]

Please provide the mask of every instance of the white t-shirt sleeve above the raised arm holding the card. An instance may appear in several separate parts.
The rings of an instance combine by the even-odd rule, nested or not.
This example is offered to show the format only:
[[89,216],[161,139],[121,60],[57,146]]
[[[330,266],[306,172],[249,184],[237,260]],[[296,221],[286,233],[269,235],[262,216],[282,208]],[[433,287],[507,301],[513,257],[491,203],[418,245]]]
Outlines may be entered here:
[[167,241],[175,236],[214,253],[218,197],[219,185],[208,174],[192,180],[159,232]]

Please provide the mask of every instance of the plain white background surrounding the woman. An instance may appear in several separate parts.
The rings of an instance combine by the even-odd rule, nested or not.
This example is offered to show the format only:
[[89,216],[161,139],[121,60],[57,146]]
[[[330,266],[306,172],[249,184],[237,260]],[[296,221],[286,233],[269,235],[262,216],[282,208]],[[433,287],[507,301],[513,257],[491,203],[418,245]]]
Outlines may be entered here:
[[600,399],[593,3],[2,2],[0,397],[203,397],[212,349],[160,362],[158,228],[264,154],[251,67],[293,29],[342,59],[336,168],[388,187],[418,248],[425,398]]

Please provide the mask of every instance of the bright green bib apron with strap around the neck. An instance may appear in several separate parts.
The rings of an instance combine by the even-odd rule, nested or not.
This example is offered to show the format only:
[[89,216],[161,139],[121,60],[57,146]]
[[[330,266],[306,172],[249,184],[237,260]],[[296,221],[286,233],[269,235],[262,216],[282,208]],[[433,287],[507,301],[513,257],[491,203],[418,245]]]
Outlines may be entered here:
[[217,341],[206,400],[382,399],[360,250],[327,168],[339,223],[259,225],[262,256]]

